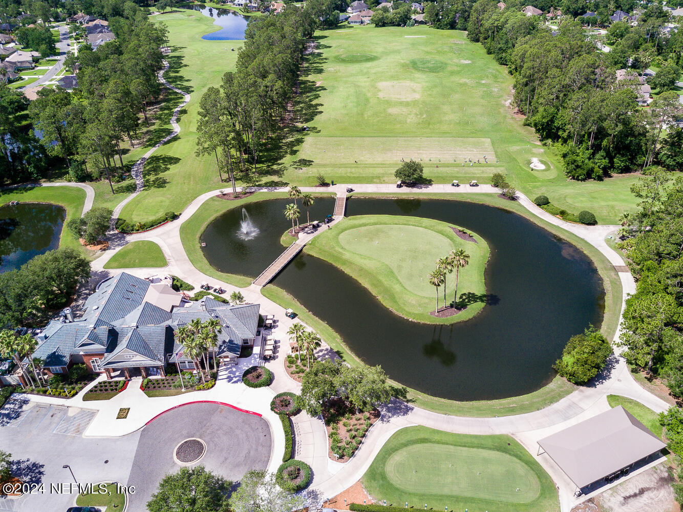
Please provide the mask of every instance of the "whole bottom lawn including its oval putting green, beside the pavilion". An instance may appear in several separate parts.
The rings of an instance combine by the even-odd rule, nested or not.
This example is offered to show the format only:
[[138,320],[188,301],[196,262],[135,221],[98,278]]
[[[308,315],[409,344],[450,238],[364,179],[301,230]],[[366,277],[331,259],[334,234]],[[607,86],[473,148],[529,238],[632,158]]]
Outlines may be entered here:
[[510,436],[404,428],[382,446],[362,481],[374,498],[398,507],[559,511],[553,480]]

